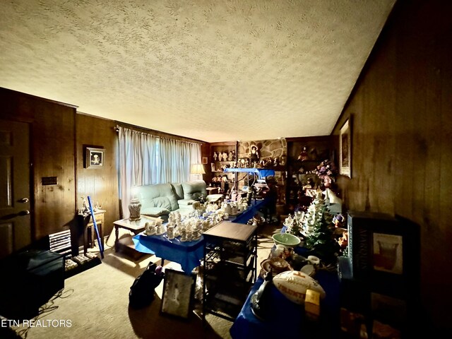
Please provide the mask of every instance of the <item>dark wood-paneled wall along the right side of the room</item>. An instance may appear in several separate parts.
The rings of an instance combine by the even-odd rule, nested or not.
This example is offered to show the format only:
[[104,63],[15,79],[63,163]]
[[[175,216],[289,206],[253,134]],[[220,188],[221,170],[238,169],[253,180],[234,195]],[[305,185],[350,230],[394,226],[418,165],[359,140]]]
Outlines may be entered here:
[[350,210],[396,213],[420,225],[426,314],[416,326],[434,323],[448,330],[451,15],[448,1],[398,1],[333,131],[338,134],[352,116],[352,179],[346,195]]

